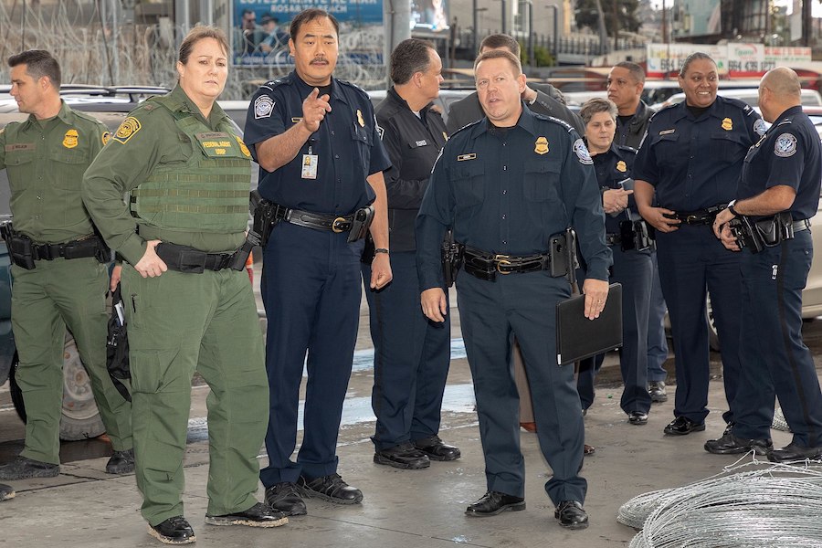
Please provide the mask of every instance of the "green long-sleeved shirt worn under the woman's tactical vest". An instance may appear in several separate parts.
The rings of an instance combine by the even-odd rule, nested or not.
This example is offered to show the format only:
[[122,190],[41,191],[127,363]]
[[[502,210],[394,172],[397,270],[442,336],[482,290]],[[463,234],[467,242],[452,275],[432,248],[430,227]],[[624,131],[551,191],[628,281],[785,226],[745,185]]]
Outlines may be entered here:
[[[191,112],[212,131],[216,131],[218,126],[225,128],[230,123],[226,112],[216,103],[208,120],[205,120],[199,108],[179,85],[169,93],[167,99],[174,112]],[[242,147],[245,151],[245,144]],[[142,258],[145,242],[150,239],[161,239],[208,253],[237,249],[245,240],[242,231],[218,233],[157,230],[144,223],[141,234],[137,234],[141,220],[132,216],[122,195],[136,188],[161,164],[179,163],[184,167],[191,151],[191,143],[180,131],[172,112],[149,100],[131,112],[112,136],[111,144],[98,155],[86,172],[83,201],[102,237],[132,265]],[[248,157],[250,158],[250,154]],[[249,163],[249,190],[250,178]]]

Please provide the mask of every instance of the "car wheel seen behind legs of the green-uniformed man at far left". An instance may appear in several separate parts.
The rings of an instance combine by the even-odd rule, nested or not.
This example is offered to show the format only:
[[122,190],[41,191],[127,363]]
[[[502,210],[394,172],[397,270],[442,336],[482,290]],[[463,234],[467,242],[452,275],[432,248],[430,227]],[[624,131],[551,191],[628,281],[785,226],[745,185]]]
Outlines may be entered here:
[[[9,374],[9,385],[12,402],[17,415],[26,422],[26,406],[23,393],[16,383],[16,371],[19,358],[15,353],[14,363]],[[106,428],[102,424],[100,411],[94,402],[91,392],[91,381],[86,368],[80,360],[77,344],[68,332],[63,347],[63,406],[60,417],[60,439],[76,441],[98,437]]]

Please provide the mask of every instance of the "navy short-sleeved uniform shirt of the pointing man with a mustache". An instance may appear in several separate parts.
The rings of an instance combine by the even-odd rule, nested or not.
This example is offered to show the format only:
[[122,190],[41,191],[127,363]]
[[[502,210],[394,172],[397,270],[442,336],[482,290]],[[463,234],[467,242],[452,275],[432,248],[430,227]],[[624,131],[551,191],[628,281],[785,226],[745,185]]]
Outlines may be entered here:
[[[260,86],[248,105],[244,140],[254,160],[258,142],[288,131],[302,121],[302,101],[313,86],[296,72]],[[348,215],[374,201],[365,177],[387,169],[368,94],[348,82],[332,79],[331,112],[290,163],[273,173],[259,169],[259,194],[280,205],[315,213]],[[317,178],[302,177],[306,155],[316,155]]]

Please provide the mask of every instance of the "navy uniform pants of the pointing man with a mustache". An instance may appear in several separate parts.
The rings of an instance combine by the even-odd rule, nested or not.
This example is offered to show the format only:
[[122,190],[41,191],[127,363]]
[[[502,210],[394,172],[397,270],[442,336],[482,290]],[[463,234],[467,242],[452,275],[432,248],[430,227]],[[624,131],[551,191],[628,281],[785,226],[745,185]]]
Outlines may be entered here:
[[[337,469],[342,402],[353,362],[362,298],[363,241],[280,223],[265,248],[261,290],[268,316],[269,466],[263,485],[320,478]],[[308,359],[306,360],[306,353]],[[308,371],[303,439],[296,462],[303,365]]]

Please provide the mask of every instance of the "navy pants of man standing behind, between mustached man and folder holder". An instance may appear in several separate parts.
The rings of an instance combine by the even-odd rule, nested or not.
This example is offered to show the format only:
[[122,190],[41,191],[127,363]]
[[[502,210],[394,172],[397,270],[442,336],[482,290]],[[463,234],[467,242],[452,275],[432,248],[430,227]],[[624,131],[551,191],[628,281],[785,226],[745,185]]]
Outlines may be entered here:
[[391,254],[394,279],[384,289],[369,289],[371,265],[363,265],[365,298],[374,342],[377,450],[436,436],[442,395],[451,360],[451,322],[429,321],[419,304],[416,253]]

